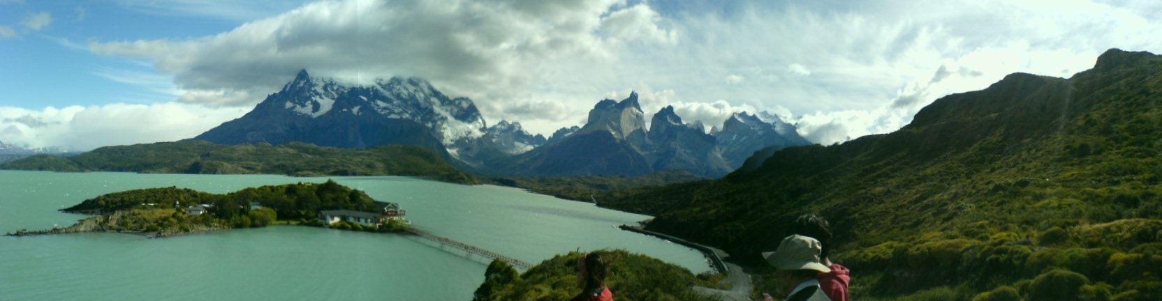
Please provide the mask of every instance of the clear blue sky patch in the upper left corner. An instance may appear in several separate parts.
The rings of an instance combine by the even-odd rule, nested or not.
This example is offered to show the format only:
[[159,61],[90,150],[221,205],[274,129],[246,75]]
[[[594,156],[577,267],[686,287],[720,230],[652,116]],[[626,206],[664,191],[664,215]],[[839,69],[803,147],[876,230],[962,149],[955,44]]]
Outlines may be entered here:
[[[38,109],[170,102],[175,97],[171,74],[155,72],[148,60],[92,53],[86,44],[208,36],[300,5],[272,1],[251,8],[268,12],[216,14],[207,7],[198,9],[196,2],[177,2],[181,1],[164,9],[145,1],[0,1],[0,25],[19,32],[0,39],[0,53],[5,53],[0,69],[6,71],[0,72],[0,104]],[[182,5],[189,7],[180,10],[177,6]],[[45,13],[52,21],[41,29],[21,24]]]

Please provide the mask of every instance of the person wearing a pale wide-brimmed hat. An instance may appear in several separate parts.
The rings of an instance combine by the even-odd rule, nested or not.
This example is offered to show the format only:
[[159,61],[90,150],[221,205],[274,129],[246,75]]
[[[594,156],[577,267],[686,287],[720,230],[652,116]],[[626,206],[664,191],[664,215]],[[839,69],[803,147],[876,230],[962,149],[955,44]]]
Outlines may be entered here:
[[831,272],[831,269],[819,262],[823,244],[819,241],[791,235],[783,238],[774,252],[763,252],[767,263],[777,269],[775,279],[787,301],[831,301],[819,289],[819,273]]

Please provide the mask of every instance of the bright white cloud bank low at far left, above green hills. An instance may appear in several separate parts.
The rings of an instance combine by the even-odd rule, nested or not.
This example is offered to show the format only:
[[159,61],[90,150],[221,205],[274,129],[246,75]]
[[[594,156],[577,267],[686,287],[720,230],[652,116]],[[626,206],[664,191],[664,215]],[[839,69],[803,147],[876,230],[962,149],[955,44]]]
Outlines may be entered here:
[[44,108],[0,107],[0,141],[28,147],[91,150],[110,145],[192,138],[246,109],[208,109],[180,103]]

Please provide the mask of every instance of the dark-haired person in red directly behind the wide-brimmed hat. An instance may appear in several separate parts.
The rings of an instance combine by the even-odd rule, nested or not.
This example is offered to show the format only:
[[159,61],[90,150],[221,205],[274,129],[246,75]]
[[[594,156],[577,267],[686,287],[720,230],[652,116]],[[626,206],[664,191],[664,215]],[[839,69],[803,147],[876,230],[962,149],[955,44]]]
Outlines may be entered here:
[[832,263],[827,256],[831,254],[831,223],[827,220],[815,215],[803,214],[791,222],[786,235],[803,235],[816,238],[823,245],[819,252],[819,260],[831,272],[819,273],[819,287],[831,298],[832,301],[848,301],[847,285],[851,282],[851,271],[846,266]]

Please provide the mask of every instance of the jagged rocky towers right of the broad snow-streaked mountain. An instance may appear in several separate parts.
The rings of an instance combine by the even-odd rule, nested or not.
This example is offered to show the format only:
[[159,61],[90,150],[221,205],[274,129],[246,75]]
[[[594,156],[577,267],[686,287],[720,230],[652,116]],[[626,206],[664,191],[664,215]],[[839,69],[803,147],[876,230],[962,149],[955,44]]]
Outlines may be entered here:
[[673,107],[653,115],[646,129],[638,94],[621,102],[603,100],[589,111],[582,127],[558,130],[547,144],[494,167],[508,175],[578,176],[646,175],[686,170],[720,177],[754,152],[809,145],[795,126],[740,112],[723,130],[706,133],[702,123],[687,124]]

